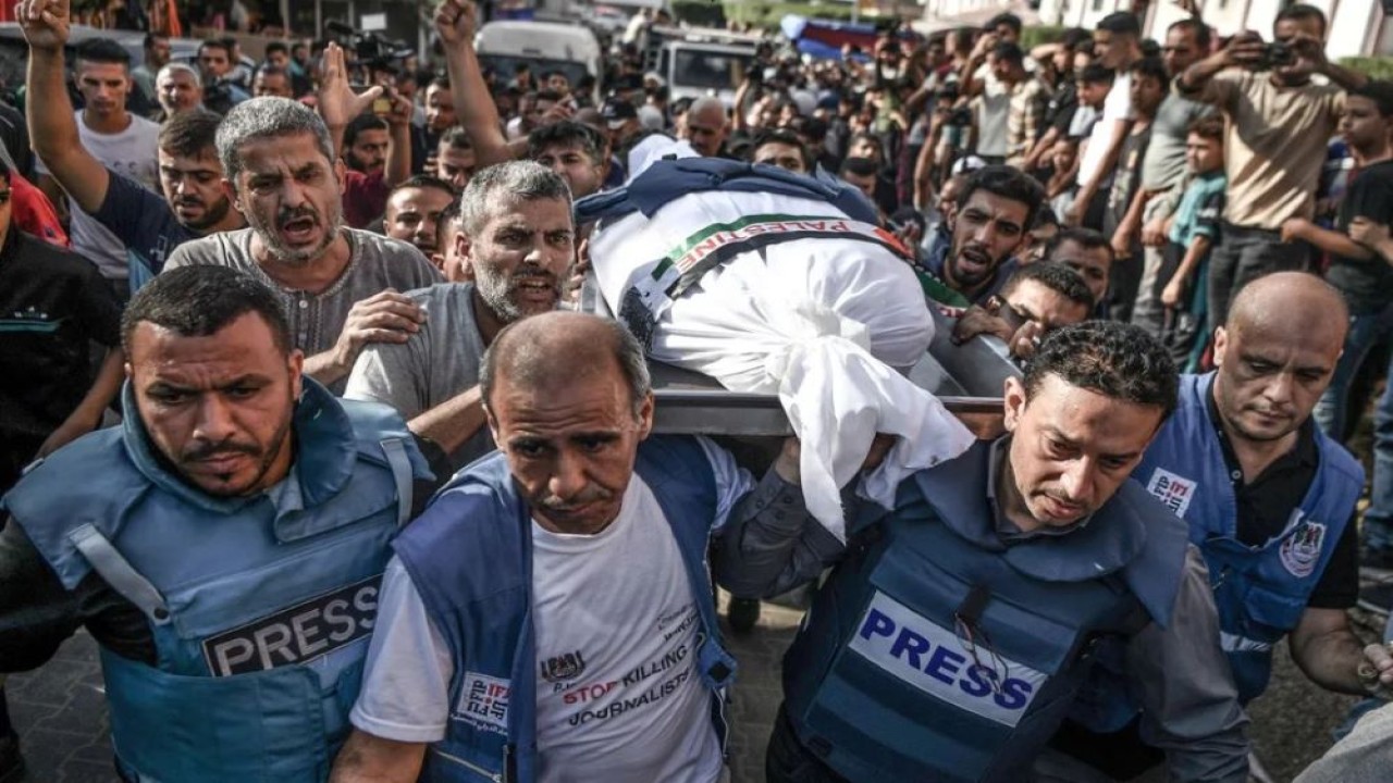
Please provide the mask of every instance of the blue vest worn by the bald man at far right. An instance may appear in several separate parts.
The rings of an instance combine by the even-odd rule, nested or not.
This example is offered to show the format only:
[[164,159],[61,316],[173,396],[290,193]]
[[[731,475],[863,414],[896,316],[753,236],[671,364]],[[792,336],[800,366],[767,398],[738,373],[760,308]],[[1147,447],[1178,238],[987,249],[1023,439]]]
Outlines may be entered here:
[[1266,690],[1272,645],[1301,620],[1334,553],[1364,489],[1364,468],[1316,429],[1321,464],[1287,528],[1263,546],[1240,542],[1237,500],[1209,418],[1212,383],[1213,373],[1181,376],[1180,407],[1133,476],[1188,522],[1190,541],[1209,566],[1223,648],[1247,704]]

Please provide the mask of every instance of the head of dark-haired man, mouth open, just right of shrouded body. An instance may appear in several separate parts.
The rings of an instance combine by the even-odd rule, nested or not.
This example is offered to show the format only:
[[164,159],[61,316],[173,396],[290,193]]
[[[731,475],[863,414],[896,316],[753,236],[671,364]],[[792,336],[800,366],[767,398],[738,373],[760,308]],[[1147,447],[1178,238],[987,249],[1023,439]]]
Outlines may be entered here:
[[1029,241],[1045,202],[1041,185],[1009,166],[978,169],[963,185],[947,220],[951,242],[940,242],[925,266],[951,288],[946,305],[985,305],[1015,270],[1011,258]]

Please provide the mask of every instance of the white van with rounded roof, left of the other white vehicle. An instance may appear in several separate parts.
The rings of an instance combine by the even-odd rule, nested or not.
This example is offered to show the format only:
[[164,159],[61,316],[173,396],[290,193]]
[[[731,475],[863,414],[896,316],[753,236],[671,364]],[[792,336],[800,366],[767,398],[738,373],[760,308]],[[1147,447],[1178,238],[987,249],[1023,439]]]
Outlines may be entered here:
[[575,86],[586,74],[595,77],[596,99],[605,74],[600,45],[584,25],[559,22],[497,21],[479,28],[474,39],[479,64],[497,74],[500,82],[513,79],[517,67],[527,64],[536,79],[546,71],[561,71]]

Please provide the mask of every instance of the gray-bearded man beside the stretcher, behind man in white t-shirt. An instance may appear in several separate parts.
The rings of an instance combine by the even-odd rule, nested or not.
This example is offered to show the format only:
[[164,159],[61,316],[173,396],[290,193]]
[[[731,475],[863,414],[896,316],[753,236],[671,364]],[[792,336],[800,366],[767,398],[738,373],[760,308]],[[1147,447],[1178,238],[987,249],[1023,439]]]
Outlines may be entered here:
[[479,393],[485,348],[561,298],[575,258],[571,191],[531,160],[490,166],[464,188],[460,226],[454,245],[474,281],[410,291],[429,318],[404,341],[364,350],[344,393],[397,408],[457,468],[493,450]]

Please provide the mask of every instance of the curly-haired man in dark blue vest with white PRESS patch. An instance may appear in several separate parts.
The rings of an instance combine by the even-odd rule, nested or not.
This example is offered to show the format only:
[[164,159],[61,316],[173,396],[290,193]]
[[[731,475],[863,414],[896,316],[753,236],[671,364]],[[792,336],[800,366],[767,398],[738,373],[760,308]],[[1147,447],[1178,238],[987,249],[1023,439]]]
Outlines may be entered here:
[[1170,779],[1245,782],[1204,561],[1128,481],[1176,405],[1165,347],[1066,326],[1004,392],[1007,435],[907,479],[893,511],[848,513],[784,656],[768,779],[1078,783],[1041,754],[1117,639]]

